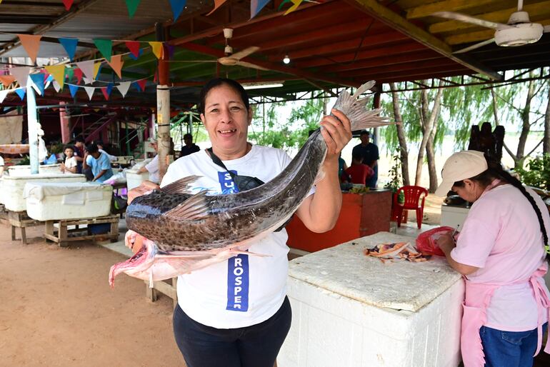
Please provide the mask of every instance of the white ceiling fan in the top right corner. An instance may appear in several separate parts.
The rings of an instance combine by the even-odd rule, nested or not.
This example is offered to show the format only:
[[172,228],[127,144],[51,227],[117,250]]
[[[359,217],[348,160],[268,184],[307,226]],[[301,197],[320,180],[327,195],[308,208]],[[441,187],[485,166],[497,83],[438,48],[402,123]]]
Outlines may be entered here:
[[542,24],[539,23],[531,23],[529,20],[529,14],[526,11],[522,11],[523,4],[523,0],[518,0],[518,11],[515,11],[510,15],[510,19],[507,24],[486,21],[484,19],[455,13],[453,11],[437,11],[431,15],[496,29],[494,38],[481,41],[478,44],[474,44],[466,47],[465,49],[454,52],[454,54],[461,54],[478,49],[479,47],[485,46],[486,44],[491,44],[493,42],[499,46],[523,46],[525,44],[533,44],[541,39],[543,33],[550,33],[550,26],[542,26]]

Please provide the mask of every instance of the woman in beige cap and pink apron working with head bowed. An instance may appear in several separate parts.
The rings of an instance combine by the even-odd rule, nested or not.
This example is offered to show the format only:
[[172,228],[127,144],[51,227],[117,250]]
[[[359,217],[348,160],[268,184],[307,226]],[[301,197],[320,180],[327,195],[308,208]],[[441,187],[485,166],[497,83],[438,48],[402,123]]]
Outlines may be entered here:
[[[542,278],[548,270],[546,205],[479,151],[453,154],[441,176],[436,195],[446,196],[452,188],[474,203],[458,238],[449,233],[438,241],[466,281],[464,366],[532,366],[550,310]],[[544,351],[550,353],[550,343]]]

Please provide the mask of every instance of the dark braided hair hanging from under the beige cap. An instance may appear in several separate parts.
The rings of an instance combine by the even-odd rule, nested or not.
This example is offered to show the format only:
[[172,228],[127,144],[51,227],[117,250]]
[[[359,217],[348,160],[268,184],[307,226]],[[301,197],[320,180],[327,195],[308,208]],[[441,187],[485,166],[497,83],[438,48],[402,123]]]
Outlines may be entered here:
[[[485,171],[481,172],[481,174],[471,177],[470,180],[477,181],[481,183],[481,185],[486,187],[489,186],[494,179],[500,179],[501,181],[509,183],[517,188],[519,191],[521,191],[521,193],[523,193],[527,200],[529,200],[529,203],[531,203],[531,206],[536,213],[536,218],[539,218],[539,226],[541,227],[544,246],[548,245],[548,233],[546,233],[546,227],[544,227],[542,213],[539,206],[536,205],[536,201],[533,196],[531,196],[531,194],[526,191],[524,185],[521,183],[521,181],[519,181],[519,179],[516,179],[514,176],[509,174],[509,172],[504,171],[499,162],[487,158],[487,155],[485,155],[485,160],[487,161],[488,168]],[[462,187],[464,186],[464,181],[457,181],[454,183],[453,186]],[[546,253],[546,260],[550,262],[550,253]]]

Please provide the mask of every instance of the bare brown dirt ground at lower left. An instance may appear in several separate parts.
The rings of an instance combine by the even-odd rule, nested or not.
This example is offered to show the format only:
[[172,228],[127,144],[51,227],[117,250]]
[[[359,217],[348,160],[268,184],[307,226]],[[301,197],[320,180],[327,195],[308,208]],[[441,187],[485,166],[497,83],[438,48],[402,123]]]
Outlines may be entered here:
[[22,245],[5,222],[0,248],[0,366],[185,366],[172,300],[151,303],[144,282],[124,274],[109,287],[124,256],[86,242]]

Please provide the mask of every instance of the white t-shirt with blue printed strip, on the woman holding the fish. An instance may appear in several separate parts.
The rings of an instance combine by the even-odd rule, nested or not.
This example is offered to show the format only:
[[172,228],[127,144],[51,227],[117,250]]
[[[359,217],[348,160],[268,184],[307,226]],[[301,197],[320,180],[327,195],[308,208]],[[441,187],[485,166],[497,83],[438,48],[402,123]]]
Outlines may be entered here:
[[[267,182],[290,161],[288,154],[280,149],[252,146],[245,156],[224,164],[236,174]],[[204,150],[171,164],[161,186],[192,175],[201,176],[192,185],[193,192],[236,192],[231,176],[214,164]],[[239,255],[179,276],[179,306],[195,321],[214,328],[241,328],[266,321],[279,310],[286,296],[287,238],[283,229],[249,248],[253,253],[268,256]]]

